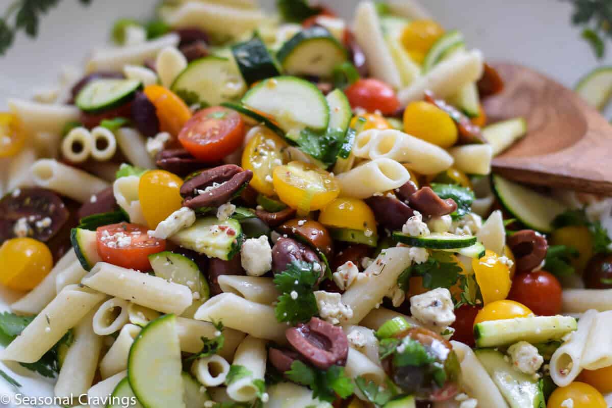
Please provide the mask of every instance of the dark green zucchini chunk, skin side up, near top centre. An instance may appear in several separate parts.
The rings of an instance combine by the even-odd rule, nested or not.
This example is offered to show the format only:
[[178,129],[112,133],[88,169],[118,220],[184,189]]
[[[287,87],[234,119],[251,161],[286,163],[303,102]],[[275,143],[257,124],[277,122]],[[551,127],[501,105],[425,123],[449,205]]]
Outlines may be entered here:
[[280,75],[274,57],[257,33],[252,39],[233,45],[231,52],[247,85]]

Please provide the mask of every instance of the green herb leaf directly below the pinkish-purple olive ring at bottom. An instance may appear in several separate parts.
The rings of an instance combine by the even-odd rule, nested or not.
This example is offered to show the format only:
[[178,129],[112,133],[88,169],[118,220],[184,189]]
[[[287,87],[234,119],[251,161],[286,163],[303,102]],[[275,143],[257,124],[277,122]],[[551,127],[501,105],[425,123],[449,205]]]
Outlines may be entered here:
[[327,370],[319,370],[305,365],[299,360],[291,364],[286,377],[297,384],[306,385],[313,391],[313,397],[333,402],[336,395],[348,398],[353,394],[353,383],[345,375],[344,367],[333,365]]

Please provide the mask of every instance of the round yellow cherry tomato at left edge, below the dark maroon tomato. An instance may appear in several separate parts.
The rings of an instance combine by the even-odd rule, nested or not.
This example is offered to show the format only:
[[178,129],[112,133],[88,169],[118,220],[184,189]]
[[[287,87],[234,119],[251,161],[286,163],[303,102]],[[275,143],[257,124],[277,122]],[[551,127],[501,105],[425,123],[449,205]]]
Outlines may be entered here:
[[43,242],[32,238],[13,238],[0,247],[0,283],[9,289],[33,289],[52,267],[53,256]]

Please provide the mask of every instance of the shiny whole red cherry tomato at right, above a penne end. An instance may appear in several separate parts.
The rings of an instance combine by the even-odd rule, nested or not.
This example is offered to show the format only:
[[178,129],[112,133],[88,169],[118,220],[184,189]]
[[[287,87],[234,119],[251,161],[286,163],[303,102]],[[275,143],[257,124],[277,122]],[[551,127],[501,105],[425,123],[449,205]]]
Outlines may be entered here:
[[523,303],[539,316],[561,312],[561,284],[544,270],[520,273],[514,277],[508,299]]

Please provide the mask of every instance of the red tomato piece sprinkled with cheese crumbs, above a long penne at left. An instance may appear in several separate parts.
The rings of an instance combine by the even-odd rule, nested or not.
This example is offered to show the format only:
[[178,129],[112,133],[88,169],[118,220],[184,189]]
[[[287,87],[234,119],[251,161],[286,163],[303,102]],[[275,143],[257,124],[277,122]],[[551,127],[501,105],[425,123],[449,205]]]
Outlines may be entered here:
[[105,225],[95,234],[100,258],[124,268],[150,270],[149,255],[166,249],[166,240],[149,237],[147,228],[136,224]]

